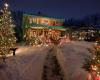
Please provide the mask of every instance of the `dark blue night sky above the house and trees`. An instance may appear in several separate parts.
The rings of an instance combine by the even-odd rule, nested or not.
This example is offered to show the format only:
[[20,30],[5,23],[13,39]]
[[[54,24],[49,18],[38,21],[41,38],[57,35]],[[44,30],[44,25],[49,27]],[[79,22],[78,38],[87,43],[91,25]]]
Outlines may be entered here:
[[[80,19],[100,13],[100,0],[8,0],[11,10],[42,12],[58,18]],[[0,0],[1,4],[2,0]]]

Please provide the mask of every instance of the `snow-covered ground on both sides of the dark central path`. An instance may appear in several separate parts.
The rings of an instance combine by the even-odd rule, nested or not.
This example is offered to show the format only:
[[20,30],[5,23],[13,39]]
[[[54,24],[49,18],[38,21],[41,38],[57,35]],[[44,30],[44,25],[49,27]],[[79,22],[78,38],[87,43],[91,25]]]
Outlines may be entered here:
[[[73,41],[55,48],[66,80],[86,80],[87,73],[81,67],[92,45]],[[54,47],[19,47],[16,56],[8,56],[5,67],[0,68],[0,80],[41,80],[46,55]]]

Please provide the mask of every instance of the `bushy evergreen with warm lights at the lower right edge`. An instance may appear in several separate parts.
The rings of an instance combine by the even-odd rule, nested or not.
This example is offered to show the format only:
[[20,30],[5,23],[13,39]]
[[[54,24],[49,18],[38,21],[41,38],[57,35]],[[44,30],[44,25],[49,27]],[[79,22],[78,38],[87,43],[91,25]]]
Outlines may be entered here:
[[90,74],[95,73],[95,78],[98,79],[93,80],[100,80],[100,49],[96,48],[95,46],[95,48],[93,50],[90,50],[90,52],[92,53],[92,57],[85,62],[83,68],[85,68],[85,70]]

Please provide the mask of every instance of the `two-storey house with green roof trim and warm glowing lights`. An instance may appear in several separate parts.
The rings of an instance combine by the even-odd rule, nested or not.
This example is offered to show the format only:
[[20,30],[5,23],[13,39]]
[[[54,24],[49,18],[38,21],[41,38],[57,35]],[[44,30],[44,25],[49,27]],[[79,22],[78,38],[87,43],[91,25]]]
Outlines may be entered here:
[[23,15],[23,33],[26,41],[32,43],[49,43],[51,39],[57,41],[65,31],[64,19],[51,18],[42,15]]

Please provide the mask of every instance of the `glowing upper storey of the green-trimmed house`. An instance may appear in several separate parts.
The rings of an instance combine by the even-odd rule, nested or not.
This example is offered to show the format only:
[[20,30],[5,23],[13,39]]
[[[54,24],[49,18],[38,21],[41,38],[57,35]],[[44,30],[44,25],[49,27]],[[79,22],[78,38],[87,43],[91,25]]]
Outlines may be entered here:
[[[44,24],[48,26],[62,26],[65,19],[52,18],[44,15],[23,14],[23,24]],[[25,27],[25,26],[24,26]]]

